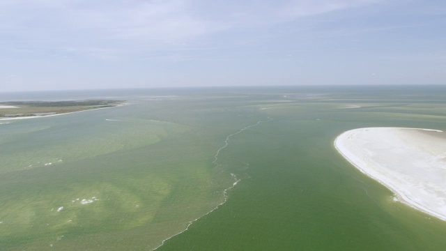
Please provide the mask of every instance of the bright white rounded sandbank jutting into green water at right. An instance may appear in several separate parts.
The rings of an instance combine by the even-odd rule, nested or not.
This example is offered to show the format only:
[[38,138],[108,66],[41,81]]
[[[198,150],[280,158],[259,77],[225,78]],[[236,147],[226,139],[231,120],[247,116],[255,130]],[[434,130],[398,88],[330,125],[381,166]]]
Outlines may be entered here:
[[334,146],[403,203],[446,220],[446,133],[418,128],[359,128]]

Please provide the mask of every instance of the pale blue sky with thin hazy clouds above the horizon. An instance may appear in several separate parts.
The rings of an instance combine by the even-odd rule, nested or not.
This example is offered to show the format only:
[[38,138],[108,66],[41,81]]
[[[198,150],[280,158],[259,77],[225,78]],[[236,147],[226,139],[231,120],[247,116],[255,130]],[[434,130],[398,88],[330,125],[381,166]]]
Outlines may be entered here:
[[334,84],[446,84],[446,1],[0,1],[0,92]]

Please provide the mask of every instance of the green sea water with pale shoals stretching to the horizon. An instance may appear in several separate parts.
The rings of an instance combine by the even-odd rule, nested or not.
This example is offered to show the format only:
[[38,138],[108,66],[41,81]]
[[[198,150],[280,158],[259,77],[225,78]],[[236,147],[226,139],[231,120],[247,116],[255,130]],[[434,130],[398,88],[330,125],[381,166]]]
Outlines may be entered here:
[[[0,250],[443,250],[446,222],[334,149],[353,128],[446,128],[445,86],[0,93],[126,100],[0,121]],[[164,241],[166,240],[166,241]]]

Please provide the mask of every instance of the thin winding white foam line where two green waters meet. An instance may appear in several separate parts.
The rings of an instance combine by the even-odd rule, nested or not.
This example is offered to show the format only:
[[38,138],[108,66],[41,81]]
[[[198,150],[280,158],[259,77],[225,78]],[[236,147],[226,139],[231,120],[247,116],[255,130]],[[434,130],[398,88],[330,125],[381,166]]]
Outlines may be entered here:
[[[243,132],[244,130],[247,130],[247,129],[252,128],[254,126],[259,126],[261,123],[268,122],[268,121],[271,121],[271,120],[272,119],[270,117],[268,117],[268,120],[266,120],[266,121],[257,121],[257,123],[255,123],[254,125],[247,126],[247,127],[243,128],[243,129],[239,130],[238,132],[234,132],[233,134],[231,134],[228,137],[226,137],[226,139],[224,140],[224,146],[220,147],[220,149],[217,150],[217,153],[215,153],[214,161],[213,161],[213,164],[215,165],[215,168],[219,166],[219,164],[217,162],[218,155],[220,154],[220,151],[222,151],[223,149],[225,149],[228,146],[229,138],[231,138],[233,135],[238,135],[240,132]],[[166,243],[166,241],[169,241],[169,239],[174,238],[178,234],[183,234],[185,231],[187,231],[187,229],[189,229],[189,227],[190,227],[190,225],[192,225],[192,223],[194,223],[197,220],[203,218],[204,216],[208,215],[209,213],[212,213],[213,211],[215,211],[215,209],[219,208],[224,203],[226,203],[226,201],[228,200],[227,191],[232,189],[233,187],[235,187],[237,185],[238,181],[240,181],[240,178],[237,178],[235,174],[231,174],[231,176],[233,176],[233,178],[235,179],[235,182],[229,188],[226,188],[225,190],[223,190],[223,198],[224,198],[224,200],[223,200],[222,203],[220,203],[217,206],[215,206],[215,208],[213,208],[213,210],[209,211],[208,213],[205,213],[204,215],[201,215],[199,218],[191,220],[190,222],[187,222],[187,226],[186,226],[186,228],[183,231],[180,231],[179,233],[174,234],[173,236],[170,236],[169,238],[165,238],[164,240],[162,240],[162,242],[161,242],[161,244],[159,246],[157,246],[156,248],[153,248],[151,251],[157,250],[162,245],[164,245],[164,243]]]

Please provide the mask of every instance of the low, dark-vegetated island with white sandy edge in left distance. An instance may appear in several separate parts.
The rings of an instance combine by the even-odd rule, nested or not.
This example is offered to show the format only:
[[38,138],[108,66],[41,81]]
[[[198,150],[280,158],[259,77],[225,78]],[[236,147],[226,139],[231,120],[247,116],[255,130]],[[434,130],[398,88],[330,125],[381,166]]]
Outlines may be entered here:
[[1,102],[0,119],[29,119],[123,105],[122,100]]

